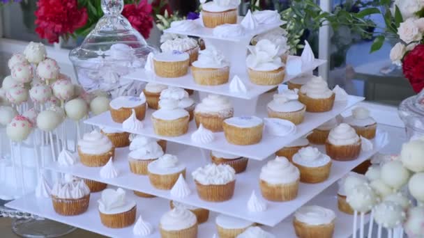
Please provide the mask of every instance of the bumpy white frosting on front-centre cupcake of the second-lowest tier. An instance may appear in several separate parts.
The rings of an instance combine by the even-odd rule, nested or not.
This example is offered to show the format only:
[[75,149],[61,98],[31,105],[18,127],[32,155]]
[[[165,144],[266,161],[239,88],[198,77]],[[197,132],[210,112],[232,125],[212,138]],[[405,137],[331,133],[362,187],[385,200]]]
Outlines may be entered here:
[[236,171],[227,164],[207,164],[197,168],[191,175],[203,185],[222,185],[236,180]]

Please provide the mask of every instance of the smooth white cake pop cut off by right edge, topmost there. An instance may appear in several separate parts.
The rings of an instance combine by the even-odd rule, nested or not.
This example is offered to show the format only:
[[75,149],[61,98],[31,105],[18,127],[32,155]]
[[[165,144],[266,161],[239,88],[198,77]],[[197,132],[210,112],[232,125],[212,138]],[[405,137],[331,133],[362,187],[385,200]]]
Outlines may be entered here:
[[407,169],[418,173],[424,172],[424,141],[414,140],[404,143],[400,158],[402,159],[403,166]]

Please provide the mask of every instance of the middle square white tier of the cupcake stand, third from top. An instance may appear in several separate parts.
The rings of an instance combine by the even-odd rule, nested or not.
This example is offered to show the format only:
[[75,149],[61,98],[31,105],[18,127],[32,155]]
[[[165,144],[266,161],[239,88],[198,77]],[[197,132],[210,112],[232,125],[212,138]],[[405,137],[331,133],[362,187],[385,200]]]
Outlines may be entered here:
[[[121,129],[126,132],[140,134],[143,136],[149,136],[153,138],[164,139],[166,141],[172,141],[183,145],[190,145],[197,148],[203,148],[206,150],[216,150],[227,154],[236,154],[242,157],[248,157],[250,159],[263,160],[269,157],[274,152],[280,150],[285,145],[292,143],[301,136],[312,131],[324,122],[334,118],[338,114],[342,113],[354,104],[364,100],[363,97],[351,96],[347,98],[347,101],[335,102],[333,109],[324,113],[305,113],[305,120],[297,126],[296,133],[289,134],[288,136],[273,136],[264,131],[262,141],[255,145],[232,145],[225,139],[224,132],[215,133],[215,139],[211,143],[200,144],[195,143],[191,140],[191,134],[196,131],[197,127],[194,120],[190,122],[188,133],[182,136],[169,137],[169,136],[158,136],[153,132],[153,125],[151,122],[151,113],[153,110],[148,109],[146,112],[146,118],[144,119],[144,128],[138,131],[123,130],[121,123],[116,123],[112,120],[109,111],[102,113],[98,116],[94,116],[85,120],[84,122],[89,125],[95,125],[98,127],[111,127],[113,129]],[[242,116],[242,115],[237,115]]]

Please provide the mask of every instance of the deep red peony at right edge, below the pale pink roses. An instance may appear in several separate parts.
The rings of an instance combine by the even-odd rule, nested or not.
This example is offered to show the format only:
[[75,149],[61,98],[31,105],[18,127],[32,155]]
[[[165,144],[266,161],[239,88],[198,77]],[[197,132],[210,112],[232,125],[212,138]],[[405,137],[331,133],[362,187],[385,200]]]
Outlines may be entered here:
[[403,73],[416,93],[424,88],[424,45],[417,45],[403,59]]

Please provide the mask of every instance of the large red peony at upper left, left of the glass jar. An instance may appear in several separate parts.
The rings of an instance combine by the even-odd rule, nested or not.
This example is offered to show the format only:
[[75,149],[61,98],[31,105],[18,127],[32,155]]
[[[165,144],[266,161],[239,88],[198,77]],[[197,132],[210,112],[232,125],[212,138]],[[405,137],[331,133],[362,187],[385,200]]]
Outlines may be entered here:
[[50,43],[59,42],[59,36],[72,34],[84,26],[88,15],[86,8],[78,8],[77,0],[38,0],[36,32]]

